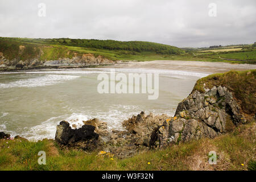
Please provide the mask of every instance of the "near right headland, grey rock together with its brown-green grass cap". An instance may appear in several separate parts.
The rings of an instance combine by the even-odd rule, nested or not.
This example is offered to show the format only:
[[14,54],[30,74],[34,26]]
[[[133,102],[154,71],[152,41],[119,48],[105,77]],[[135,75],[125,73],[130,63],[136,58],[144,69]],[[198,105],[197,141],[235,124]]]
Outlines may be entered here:
[[196,82],[179,103],[169,127],[175,142],[214,138],[255,121],[256,71],[214,74]]

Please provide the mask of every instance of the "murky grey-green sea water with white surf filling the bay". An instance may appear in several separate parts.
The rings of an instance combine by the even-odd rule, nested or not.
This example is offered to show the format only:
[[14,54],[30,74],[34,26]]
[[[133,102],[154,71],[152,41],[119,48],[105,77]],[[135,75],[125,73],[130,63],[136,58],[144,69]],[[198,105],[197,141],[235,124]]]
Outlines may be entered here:
[[122,122],[144,111],[174,115],[177,104],[191,93],[196,80],[209,75],[166,69],[115,69],[117,73],[159,73],[159,97],[148,94],[100,94],[100,73],[108,68],[44,69],[0,73],[0,131],[29,140],[54,138],[66,120],[77,127],[98,118],[109,130],[125,130]]

